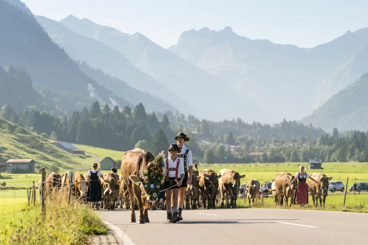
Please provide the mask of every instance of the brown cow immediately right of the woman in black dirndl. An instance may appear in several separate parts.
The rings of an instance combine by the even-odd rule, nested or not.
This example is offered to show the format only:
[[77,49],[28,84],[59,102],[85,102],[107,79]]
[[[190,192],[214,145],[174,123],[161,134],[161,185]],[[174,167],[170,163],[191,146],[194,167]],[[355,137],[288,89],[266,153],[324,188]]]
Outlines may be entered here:
[[115,209],[115,202],[119,196],[119,176],[114,173],[103,175],[103,207],[107,210]]

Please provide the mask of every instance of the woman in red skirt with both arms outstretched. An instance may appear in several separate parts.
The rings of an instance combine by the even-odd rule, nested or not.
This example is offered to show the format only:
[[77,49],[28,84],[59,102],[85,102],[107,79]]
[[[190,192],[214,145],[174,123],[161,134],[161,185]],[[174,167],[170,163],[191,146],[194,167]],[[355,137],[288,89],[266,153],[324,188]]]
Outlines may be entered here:
[[294,204],[300,204],[300,206],[303,206],[304,204],[308,203],[308,185],[306,183],[307,178],[315,183],[318,183],[318,181],[310,177],[307,172],[304,172],[304,166],[300,166],[300,172],[295,174],[295,178],[292,182],[294,183],[296,180],[298,181],[294,196]]

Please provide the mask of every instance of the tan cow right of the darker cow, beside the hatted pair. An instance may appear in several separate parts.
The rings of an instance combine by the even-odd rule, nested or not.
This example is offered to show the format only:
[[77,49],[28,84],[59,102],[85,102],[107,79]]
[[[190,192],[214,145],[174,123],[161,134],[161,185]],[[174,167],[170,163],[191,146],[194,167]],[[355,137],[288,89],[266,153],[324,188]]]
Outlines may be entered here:
[[224,168],[219,171],[219,175],[221,175],[221,178],[219,179],[221,207],[223,207],[223,200],[226,199],[226,208],[230,208],[230,206],[232,208],[236,208],[236,199],[239,192],[240,179],[244,178],[245,174],[240,175],[234,170]]

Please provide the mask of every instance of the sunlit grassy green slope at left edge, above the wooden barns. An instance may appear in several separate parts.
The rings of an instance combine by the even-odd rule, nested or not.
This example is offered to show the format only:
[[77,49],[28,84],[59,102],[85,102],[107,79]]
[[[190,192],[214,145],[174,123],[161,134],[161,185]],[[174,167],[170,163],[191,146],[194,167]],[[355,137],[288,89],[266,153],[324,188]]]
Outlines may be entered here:
[[48,171],[56,169],[55,167],[75,171],[90,168],[93,161],[90,156],[71,154],[51,143],[50,140],[0,118],[0,161],[32,158],[36,162],[36,172],[41,167],[46,167]]

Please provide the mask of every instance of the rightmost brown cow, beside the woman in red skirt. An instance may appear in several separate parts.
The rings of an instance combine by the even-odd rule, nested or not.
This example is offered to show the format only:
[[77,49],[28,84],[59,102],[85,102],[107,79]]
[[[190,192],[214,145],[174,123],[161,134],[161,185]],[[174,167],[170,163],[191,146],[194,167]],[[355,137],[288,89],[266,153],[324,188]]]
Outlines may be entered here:
[[[317,182],[320,182],[315,183],[314,181],[308,181],[308,186],[310,190],[310,195],[312,196],[313,204],[318,206],[318,199],[319,199],[319,205],[325,206],[326,196],[328,195],[328,184],[329,181],[332,180],[332,176],[327,177],[324,173],[313,173],[310,175],[310,177],[315,179]],[[323,200],[321,196],[323,197]]]

